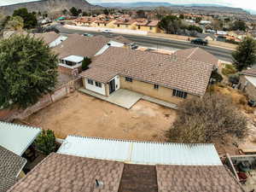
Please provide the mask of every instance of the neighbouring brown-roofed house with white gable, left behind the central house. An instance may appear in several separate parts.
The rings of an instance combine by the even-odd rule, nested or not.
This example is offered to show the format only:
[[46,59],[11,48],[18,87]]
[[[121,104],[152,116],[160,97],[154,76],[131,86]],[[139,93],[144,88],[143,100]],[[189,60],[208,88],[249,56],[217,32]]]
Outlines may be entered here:
[[101,55],[109,47],[124,47],[130,41],[123,37],[105,38],[94,36],[91,38],[79,34],[68,35],[61,44],[52,48],[59,55],[59,71],[76,76],[81,72],[84,57]]

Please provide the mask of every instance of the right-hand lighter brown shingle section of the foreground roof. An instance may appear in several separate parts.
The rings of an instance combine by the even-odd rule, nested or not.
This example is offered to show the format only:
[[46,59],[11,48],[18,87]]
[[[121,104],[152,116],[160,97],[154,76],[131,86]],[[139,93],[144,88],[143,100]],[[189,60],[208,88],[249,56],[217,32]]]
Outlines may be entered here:
[[156,166],[160,192],[244,192],[224,166]]

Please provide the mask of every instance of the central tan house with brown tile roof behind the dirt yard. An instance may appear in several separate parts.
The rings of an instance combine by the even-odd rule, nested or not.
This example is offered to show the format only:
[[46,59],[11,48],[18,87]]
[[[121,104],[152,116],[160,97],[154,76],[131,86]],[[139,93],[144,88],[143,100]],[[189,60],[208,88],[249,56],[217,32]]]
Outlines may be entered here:
[[102,96],[127,89],[177,104],[203,96],[216,65],[218,59],[199,48],[162,55],[111,47],[80,76],[85,89]]

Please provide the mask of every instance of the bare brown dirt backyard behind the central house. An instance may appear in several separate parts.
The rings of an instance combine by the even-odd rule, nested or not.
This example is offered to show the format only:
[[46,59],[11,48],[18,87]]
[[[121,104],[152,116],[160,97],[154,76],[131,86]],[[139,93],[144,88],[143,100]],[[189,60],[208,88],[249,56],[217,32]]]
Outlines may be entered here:
[[67,98],[32,114],[27,123],[55,136],[104,137],[163,142],[176,118],[175,110],[151,102],[139,101],[130,110],[74,92]]

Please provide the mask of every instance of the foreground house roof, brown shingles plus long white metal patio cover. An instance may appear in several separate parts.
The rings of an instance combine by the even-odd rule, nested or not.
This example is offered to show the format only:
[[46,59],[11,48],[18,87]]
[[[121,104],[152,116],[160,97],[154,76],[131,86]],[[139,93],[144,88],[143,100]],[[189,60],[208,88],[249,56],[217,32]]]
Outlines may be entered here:
[[18,191],[244,192],[212,144],[73,136],[8,190]]

